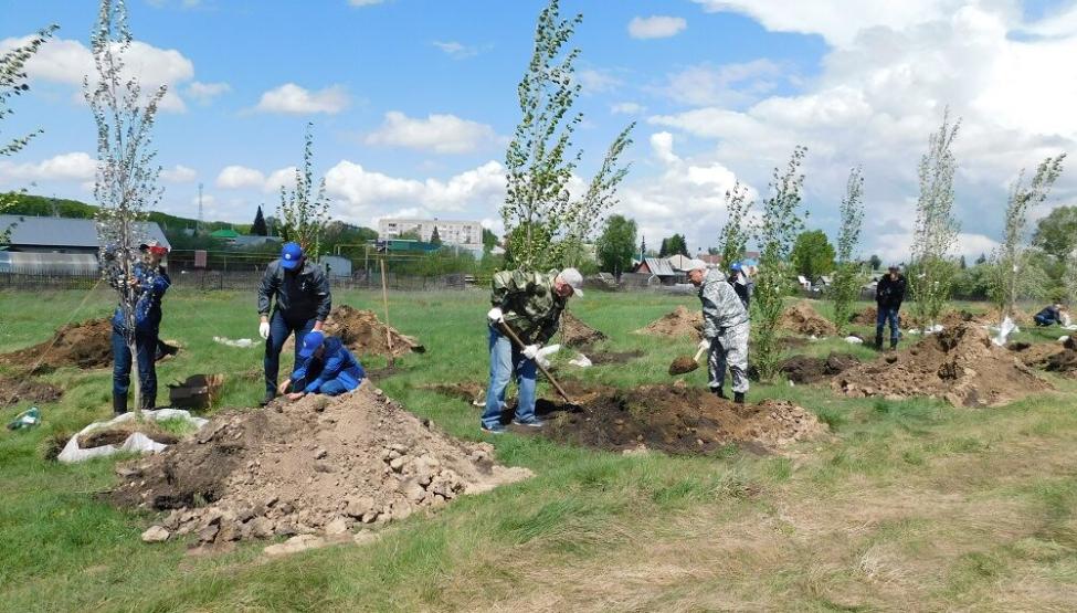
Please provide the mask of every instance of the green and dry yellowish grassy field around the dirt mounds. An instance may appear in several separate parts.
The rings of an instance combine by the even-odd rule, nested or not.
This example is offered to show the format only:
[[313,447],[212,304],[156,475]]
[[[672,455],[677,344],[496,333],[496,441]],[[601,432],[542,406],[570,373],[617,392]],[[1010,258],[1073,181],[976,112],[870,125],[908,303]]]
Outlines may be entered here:
[[[379,296],[338,304],[378,308]],[[391,297],[392,324],[429,352],[378,382],[450,433],[482,438],[478,410],[420,388],[484,381],[483,293]],[[602,295],[572,309],[642,359],[578,371],[631,387],[668,382],[690,352],[631,330],[694,297]],[[105,315],[110,297],[0,293],[0,352],[49,338],[67,320]],[[222,405],[261,395],[254,296],[176,292],[162,337],[183,345],[161,383],[222,372]],[[1053,340],[1057,334],[1025,332]],[[802,353],[849,350],[840,340]],[[862,357],[873,352],[852,348]],[[380,366],[378,361],[368,364]],[[106,370],[46,376],[66,393],[42,427],[0,434],[0,610],[6,611],[1073,611],[1077,609],[1077,384],[1002,409],[847,400],[826,388],[757,387],[831,425],[783,456],[735,448],[711,457],[623,456],[515,434],[501,463],[536,477],[413,516],[376,543],[284,559],[264,543],[192,557],[184,542],[147,546],[151,516],[95,500],[115,461],[41,459],[46,437],[106,418]],[[701,371],[691,384],[705,384]],[[163,394],[162,394],[163,395]],[[4,410],[8,421],[15,409]]]

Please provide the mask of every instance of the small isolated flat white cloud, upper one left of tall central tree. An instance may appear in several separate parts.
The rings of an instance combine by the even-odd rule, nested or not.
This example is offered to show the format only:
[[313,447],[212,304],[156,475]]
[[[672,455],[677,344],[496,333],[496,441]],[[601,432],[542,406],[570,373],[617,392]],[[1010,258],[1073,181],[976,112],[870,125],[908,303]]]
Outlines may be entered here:
[[441,114],[429,115],[425,119],[413,118],[398,110],[386,113],[381,127],[366,138],[369,145],[435,154],[465,154],[497,140],[497,133],[486,124]]

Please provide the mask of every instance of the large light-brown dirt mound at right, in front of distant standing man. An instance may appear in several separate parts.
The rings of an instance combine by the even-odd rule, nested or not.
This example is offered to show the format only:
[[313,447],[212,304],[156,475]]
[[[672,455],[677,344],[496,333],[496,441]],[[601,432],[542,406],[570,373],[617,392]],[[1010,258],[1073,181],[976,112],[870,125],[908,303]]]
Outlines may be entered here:
[[854,367],[834,390],[854,398],[942,398],[954,406],[999,406],[1050,385],[1013,352],[991,344],[988,331],[962,324],[897,353]]

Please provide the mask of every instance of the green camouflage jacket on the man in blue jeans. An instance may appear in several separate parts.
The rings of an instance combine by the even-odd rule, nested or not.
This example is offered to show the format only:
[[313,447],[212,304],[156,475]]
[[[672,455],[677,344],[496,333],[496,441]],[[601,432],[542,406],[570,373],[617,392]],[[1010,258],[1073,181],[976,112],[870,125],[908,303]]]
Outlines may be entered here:
[[490,282],[490,304],[526,344],[546,342],[560,326],[567,299],[553,292],[556,277],[557,271],[501,271]]

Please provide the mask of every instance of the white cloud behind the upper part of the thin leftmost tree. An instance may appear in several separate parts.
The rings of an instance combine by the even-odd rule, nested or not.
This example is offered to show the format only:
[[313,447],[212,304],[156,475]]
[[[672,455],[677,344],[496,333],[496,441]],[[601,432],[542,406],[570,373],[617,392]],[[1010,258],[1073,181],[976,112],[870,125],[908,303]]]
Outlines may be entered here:
[[[0,41],[0,53],[20,46],[30,36],[4,39]],[[151,44],[134,41],[128,53],[123,78],[137,77],[144,96],[165,85],[168,92],[161,99],[161,110],[182,113],[187,109],[178,88],[194,76],[194,64],[175,49],[159,49]],[[62,83],[75,87],[73,97],[83,99],[82,84],[87,75],[96,82],[94,57],[89,49],[80,41],[56,39],[43,44],[27,62],[27,74],[31,80]]]

